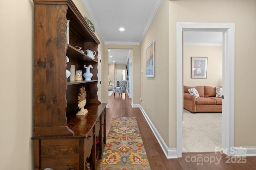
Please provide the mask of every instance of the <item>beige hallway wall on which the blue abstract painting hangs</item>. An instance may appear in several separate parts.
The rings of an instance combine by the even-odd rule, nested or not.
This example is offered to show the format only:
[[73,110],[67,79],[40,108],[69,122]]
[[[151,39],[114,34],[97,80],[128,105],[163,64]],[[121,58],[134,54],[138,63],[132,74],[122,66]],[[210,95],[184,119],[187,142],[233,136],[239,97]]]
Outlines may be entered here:
[[[153,40],[155,41],[155,76],[146,77],[146,48]],[[164,0],[140,45],[140,69],[143,70],[142,73],[140,72],[142,98],[140,104],[167,145],[169,140],[168,46],[168,0]]]

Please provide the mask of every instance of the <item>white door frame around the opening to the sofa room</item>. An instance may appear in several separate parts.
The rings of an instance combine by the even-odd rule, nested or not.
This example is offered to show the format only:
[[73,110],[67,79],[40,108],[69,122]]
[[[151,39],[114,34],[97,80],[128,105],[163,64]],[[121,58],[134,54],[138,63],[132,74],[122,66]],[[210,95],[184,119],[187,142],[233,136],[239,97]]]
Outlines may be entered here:
[[235,24],[234,23],[177,23],[176,24],[176,147],[182,157],[183,113],[183,31],[219,31],[222,45],[222,151],[232,156],[234,147],[234,78],[235,78]]

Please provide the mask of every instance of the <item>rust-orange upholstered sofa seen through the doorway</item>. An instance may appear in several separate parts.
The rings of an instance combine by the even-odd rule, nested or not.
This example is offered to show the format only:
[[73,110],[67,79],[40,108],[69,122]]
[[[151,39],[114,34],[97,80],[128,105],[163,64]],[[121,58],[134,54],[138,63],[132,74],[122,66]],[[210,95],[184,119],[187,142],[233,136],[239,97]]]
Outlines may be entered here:
[[[222,86],[218,86],[221,87]],[[193,88],[184,86],[184,109],[191,113],[197,112],[222,112],[222,98],[216,97],[216,87],[211,86],[196,86],[194,87],[199,94],[196,98],[193,94],[188,92],[188,89]]]

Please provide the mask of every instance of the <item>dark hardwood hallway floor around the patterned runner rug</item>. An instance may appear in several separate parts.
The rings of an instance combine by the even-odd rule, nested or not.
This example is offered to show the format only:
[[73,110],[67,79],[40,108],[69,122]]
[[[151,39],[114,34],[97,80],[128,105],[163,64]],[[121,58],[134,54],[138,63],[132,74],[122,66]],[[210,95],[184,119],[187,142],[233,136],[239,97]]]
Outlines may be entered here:
[[[135,116],[151,170],[256,170],[256,156],[241,158],[204,152],[182,153],[182,158],[167,159],[140,108],[132,108],[131,99],[127,94],[122,97],[112,94],[109,96],[109,105],[110,107],[106,108],[106,133],[108,134],[113,117]],[[203,161],[197,162],[198,158]]]

